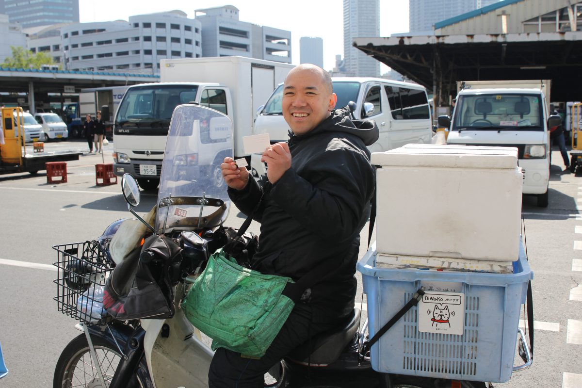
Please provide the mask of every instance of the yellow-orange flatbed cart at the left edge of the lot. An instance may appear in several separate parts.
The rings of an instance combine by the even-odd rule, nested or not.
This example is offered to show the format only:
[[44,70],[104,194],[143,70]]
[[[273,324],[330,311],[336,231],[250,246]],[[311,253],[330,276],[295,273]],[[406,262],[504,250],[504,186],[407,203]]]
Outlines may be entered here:
[[0,109],[0,174],[29,172],[34,175],[45,170],[47,162],[79,160],[82,152],[34,152],[32,145],[24,143],[24,113],[20,107]]

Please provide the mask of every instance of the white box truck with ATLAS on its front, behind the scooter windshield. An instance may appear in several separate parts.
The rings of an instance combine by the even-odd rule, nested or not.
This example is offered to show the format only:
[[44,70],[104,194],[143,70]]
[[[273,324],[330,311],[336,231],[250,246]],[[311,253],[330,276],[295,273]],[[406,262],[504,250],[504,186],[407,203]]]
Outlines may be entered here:
[[[235,127],[234,156],[249,156],[242,137],[253,134],[255,112],[292,68],[288,63],[241,56],[162,59],[161,82],[129,87],[119,105],[113,171],[118,176],[130,173],[144,190],[155,189],[172,112],[189,102],[229,116]],[[216,178],[222,175],[217,172]]]

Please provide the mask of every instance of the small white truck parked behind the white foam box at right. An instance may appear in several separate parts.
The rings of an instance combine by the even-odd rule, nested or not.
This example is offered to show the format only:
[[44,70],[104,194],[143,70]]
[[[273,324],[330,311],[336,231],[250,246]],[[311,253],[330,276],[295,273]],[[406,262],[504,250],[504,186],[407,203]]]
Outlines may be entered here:
[[516,147],[523,173],[523,193],[537,195],[548,206],[549,128],[559,116],[549,116],[549,80],[466,81],[459,83],[452,118],[439,117],[448,127],[447,144]]

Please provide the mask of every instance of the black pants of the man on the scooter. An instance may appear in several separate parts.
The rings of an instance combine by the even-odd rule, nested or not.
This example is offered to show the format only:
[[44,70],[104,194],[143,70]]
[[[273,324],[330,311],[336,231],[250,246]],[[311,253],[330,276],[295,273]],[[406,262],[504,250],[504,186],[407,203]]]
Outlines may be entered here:
[[312,322],[311,305],[299,303],[293,308],[285,325],[260,359],[243,358],[224,348],[218,348],[208,372],[210,388],[263,388],[264,375],[294,348],[317,333],[338,325],[331,322]]

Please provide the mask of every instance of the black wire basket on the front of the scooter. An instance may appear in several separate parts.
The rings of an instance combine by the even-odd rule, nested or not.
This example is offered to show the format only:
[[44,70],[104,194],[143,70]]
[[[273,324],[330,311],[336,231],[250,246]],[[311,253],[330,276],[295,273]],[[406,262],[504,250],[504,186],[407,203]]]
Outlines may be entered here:
[[56,297],[58,311],[77,321],[101,325],[108,321],[102,308],[103,286],[115,264],[101,250],[98,241],[54,245],[58,268]]

